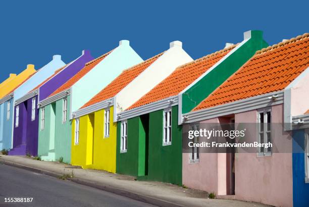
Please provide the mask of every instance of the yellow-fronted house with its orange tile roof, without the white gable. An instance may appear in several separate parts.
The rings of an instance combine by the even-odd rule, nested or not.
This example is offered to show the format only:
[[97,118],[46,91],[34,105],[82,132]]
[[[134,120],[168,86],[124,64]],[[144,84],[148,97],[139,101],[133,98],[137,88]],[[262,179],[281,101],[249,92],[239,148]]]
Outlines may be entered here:
[[128,87],[162,54],[124,70],[83,107],[72,113],[74,117],[72,122],[72,165],[81,166],[84,169],[116,172],[117,122],[115,121],[114,101],[121,90]]

